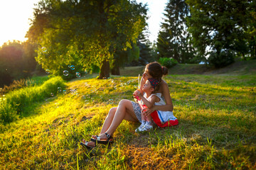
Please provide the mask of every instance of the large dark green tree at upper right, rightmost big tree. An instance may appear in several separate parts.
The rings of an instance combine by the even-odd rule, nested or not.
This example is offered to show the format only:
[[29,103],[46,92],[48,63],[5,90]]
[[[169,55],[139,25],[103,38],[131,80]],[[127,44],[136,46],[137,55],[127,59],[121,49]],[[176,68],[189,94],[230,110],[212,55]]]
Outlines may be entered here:
[[186,2],[191,9],[188,30],[192,33],[193,45],[202,55],[209,55],[210,63],[223,67],[234,61],[235,54],[247,53],[247,0]]

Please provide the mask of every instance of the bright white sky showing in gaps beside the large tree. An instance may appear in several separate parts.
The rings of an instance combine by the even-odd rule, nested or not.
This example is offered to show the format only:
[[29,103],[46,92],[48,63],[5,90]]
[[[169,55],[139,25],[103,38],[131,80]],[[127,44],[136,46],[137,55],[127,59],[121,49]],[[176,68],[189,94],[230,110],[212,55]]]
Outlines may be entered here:
[[[0,46],[9,40],[25,41],[29,28],[29,18],[33,18],[34,4],[39,0],[1,0],[0,1]],[[164,8],[168,0],[136,0],[148,4],[149,40],[157,38]]]

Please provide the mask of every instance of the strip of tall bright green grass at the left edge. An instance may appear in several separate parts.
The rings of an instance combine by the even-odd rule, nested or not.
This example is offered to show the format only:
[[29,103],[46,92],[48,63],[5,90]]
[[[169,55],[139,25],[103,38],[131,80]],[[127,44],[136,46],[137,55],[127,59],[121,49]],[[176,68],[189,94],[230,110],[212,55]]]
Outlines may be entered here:
[[65,82],[61,77],[48,79],[41,86],[28,86],[10,91],[1,98],[4,101],[1,103],[1,121],[10,123],[18,115],[28,115],[29,109],[33,108],[33,103],[58,94],[58,87],[65,88]]

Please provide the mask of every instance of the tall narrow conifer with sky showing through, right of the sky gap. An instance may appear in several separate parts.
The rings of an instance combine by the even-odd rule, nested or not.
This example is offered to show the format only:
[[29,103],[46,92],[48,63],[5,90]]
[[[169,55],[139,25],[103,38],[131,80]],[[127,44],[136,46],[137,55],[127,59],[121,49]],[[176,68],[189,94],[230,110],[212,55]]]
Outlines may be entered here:
[[186,26],[188,5],[184,0],[170,0],[164,11],[164,23],[157,38],[158,57],[171,57],[180,63],[193,62],[195,50]]

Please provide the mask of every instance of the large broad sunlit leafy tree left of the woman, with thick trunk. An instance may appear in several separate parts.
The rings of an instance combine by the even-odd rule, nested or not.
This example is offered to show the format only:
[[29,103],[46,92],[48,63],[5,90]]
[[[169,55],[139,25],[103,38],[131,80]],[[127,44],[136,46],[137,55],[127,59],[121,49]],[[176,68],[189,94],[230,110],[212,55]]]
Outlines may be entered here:
[[44,0],[27,36],[38,43],[43,69],[61,74],[70,64],[77,70],[94,64],[103,78],[110,75],[114,52],[132,48],[144,26],[146,7],[135,1]]

